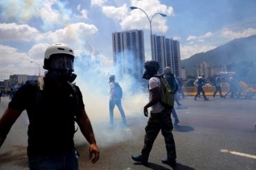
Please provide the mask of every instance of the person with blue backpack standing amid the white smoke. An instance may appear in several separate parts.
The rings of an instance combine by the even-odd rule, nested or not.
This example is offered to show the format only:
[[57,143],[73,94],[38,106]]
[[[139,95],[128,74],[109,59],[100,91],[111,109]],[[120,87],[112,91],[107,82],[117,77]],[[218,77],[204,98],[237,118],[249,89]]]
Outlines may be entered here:
[[122,109],[122,88],[120,87],[119,83],[116,82],[116,76],[110,75],[109,76],[109,86],[110,86],[110,98],[109,98],[109,118],[110,118],[110,125],[113,126],[113,109],[115,106],[118,107],[120,114],[122,116],[122,125],[127,125],[127,121],[125,118],[125,111]]

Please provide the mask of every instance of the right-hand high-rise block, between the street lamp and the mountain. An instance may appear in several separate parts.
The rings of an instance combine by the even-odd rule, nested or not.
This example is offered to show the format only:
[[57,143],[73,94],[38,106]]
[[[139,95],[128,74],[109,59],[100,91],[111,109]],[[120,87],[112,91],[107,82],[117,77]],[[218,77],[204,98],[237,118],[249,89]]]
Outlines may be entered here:
[[165,36],[152,35],[152,60],[160,64],[159,73],[171,67],[175,76],[181,76],[181,52],[179,41],[166,39]]

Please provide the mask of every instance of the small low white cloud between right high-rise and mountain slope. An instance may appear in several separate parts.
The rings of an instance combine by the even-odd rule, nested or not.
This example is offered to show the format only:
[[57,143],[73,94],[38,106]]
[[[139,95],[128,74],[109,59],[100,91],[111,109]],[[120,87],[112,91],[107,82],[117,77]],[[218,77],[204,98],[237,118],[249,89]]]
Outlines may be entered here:
[[181,45],[181,59],[188,59],[190,56],[199,53],[207,52],[208,50],[214,49],[213,45]]

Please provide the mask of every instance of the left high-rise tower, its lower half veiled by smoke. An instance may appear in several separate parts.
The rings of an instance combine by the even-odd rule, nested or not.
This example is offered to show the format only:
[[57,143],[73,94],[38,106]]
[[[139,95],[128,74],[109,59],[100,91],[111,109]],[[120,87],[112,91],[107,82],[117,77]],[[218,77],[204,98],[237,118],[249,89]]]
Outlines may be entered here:
[[143,30],[128,30],[112,33],[113,64],[118,74],[130,74],[141,78],[145,63]]

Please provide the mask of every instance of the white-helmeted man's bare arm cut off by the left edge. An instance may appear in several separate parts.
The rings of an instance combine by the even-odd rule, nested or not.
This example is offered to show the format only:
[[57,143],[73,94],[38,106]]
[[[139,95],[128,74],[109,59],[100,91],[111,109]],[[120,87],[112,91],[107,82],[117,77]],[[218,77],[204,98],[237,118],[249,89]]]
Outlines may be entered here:
[[17,118],[21,115],[22,111],[15,109],[6,109],[3,116],[0,119],[0,148],[3,145],[4,140],[6,139],[7,134],[10,131],[10,128],[15,123]]

